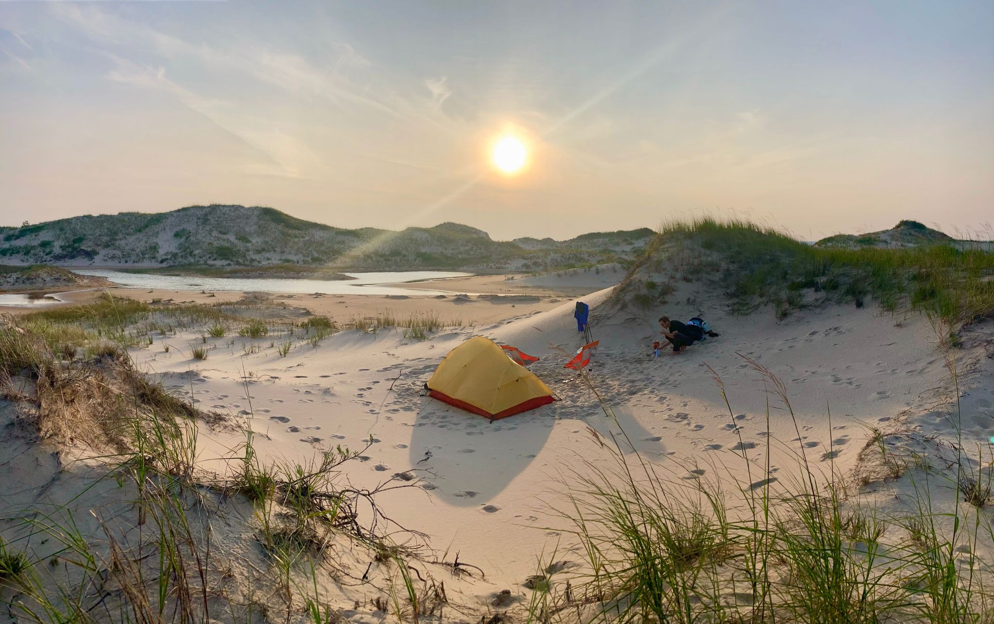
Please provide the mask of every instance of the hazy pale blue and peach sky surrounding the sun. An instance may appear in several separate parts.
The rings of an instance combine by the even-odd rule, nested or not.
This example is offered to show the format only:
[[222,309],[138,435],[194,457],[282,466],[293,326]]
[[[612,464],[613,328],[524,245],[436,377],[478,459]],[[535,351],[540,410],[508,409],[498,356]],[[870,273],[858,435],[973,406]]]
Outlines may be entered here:
[[0,0],[0,225],[205,204],[497,239],[983,230],[994,3]]

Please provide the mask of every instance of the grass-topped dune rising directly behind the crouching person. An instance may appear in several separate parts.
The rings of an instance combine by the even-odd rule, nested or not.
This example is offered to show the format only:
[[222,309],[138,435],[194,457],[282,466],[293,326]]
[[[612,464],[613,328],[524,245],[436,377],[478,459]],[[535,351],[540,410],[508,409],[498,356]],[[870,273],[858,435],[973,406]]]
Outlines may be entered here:
[[929,244],[910,247],[812,246],[745,221],[701,219],[664,225],[617,289],[619,301],[651,305],[672,292],[672,277],[714,283],[731,309],[771,307],[786,316],[824,303],[888,312],[920,311],[949,325],[994,310],[994,251]]

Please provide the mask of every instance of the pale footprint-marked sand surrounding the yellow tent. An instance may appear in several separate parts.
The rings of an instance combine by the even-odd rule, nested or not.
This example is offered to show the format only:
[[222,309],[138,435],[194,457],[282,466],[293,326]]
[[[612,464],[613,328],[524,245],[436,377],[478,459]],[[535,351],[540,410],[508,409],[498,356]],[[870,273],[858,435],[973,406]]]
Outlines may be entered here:
[[[773,478],[783,475],[786,484],[801,453],[826,473],[870,470],[859,465],[870,427],[951,434],[949,370],[933,327],[921,316],[831,306],[784,320],[771,311],[734,317],[718,299],[700,303],[707,301],[700,298],[705,293],[690,286],[673,300],[693,304],[618,310],[604,303],[610,290],[582,300],[593,308],[593,334],[600,340],[589,379],[616,422],[578,376],[563,368],[567,354],[581,344],[574,299],[514,308],[476,299],[461,304],[475,307],[459,307],[458,313],[466,318],[463,310],[474,310],[479,324],[442,330],[426,341],[406,339],[402,331],[351,330],[316,348],[301,343],[282,358],[269,346],[272,338],[237,338],[232,345],[226,337],[208,339],[210,357],[197,361],[189,347],[200,338],[188,334],[170,337],[168,353],[156,342],[132,356],[173,390],[192,391],[199,405],[247,418],[263,436],[257,441],[263,457],[300,460],[338,444],[362,447],[372,436],[362,461],[347,468],[348,478],[368,486],[413,476],[420,495],[399,492],[383,505],[405,526],[427,533],[434,546],[483,567],[495,589],[520,589],[544,552],[580,560],[558,530],[556,510],[565,504],[574,475],[609,460],[591,429],[609,439],[621,437],[620,426],[643,457],[675,479],[720,476],[745,485],[741,455],[761,462],[767,445]],[[307,305],[330,314],[335,306],[355,305],[366,313],[387,302],[395,309],[428,305],[453,313],[458,305],[332,296],[308,299]],[[659,331],[655,318],[662,313],[703,315],[721,336],[679,355],[651,358],[649,345]],[[989,334],[990,325],[977,331]],[[541,357],[532,370],[561,400],[491,423],[420,395],[441,358],[473,335]],[[990,338],[978,336],[975,345]],[[257,353],[251,353],[253,345]],[[983,349],[958,355],[960,388],[972,389],[961,397],[968,402],[963,412],[973,418],[966,433],[978,440],[994,426],[992,366]],[[793,415],[746,358],[782,381]],[[724,384],[731,413],[712,371]],[[241,441],[236,434],[205,435],[228,447]]]

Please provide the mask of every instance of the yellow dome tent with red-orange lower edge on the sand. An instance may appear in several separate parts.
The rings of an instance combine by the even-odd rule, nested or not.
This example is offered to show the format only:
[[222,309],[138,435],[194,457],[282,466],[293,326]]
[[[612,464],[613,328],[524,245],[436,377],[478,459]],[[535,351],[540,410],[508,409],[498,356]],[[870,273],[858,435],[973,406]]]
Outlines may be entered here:
[[483,336],[450,351],[427,387],[430,396],[491,420],[556,400],[542,380]]

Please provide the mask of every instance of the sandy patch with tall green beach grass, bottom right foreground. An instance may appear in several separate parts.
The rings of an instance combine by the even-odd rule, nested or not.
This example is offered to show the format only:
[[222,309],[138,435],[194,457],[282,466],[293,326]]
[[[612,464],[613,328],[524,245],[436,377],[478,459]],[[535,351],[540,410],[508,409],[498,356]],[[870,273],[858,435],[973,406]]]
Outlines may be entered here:
[[[745,363],[771,390],[770,436],[769,411],[793,419],[786,390]],[[725,406],[737,426],[727,397]],[[659,466],[631,453],[623,430],[612,443],[591,429],[613,467],[585,462],[580,475],[589,476],[564,483],[571,504],[554,510],[586,560],[572,573],[554,558],[540,561],[531,621],[575,621],[581,607],[584,621],[618,623],[994,621],[990,568],[977,553],[994,544],[983,509],[990,474],[976,468],[990,447],[972,457],[959,450],[937,468],[913,455],[888,459],[896,451],[882,445],[878,460],[902,468],[882,465],[881,478],[902,478],[911,490],[901,494],[907,511],[888,514],[850,498],[853,484],[830,465],[809,463],[793,422],[795,469],[774,473],[768,447],[764,457],[744,453],[745,477],[731,488],[731,466],[715,466],[709,480],[697,465]],[[692,478],[680,478],[685,471]],[[939,509],[930,496],[943,490],[955,500]]]

